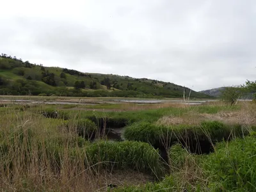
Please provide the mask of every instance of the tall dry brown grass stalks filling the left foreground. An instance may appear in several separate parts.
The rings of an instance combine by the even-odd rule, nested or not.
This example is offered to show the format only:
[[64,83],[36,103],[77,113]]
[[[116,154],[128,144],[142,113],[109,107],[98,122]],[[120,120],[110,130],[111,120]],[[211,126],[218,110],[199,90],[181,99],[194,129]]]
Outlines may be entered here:
[[[118,180],[111,171],[100,168],[99,164],[106,162],[95,158],[91,161],[84,151],[89,142],[79,138],[74,129],[65,129],[65,120],[45,118],[29,110],[15,113],[6,110],[1,115],[0,188],[3,191],[106,191],[109,182]],[[76,125],[76,120],[70,122]],[[72,152],[76,156],[70,155]],[[125,179],[142,174],[136,170],[123,172],[116,175]],[[146,182],[145,178],[136,182]]]

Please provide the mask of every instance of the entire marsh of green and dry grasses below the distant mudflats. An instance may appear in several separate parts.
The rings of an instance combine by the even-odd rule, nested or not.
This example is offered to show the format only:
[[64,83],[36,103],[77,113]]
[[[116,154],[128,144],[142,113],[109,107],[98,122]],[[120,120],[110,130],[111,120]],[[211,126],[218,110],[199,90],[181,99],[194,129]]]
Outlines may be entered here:
[[4,102],[0,188],[255,191],[255,107]]

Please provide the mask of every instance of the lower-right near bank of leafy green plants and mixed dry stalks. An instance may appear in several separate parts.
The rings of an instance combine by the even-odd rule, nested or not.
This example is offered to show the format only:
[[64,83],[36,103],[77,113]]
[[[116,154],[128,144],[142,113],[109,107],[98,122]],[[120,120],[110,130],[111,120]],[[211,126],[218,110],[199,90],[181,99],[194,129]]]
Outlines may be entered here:
[[170,148],[172,172],[163,181],[113,191],[255,191],[256,134],[251,135],[218,143],[215,152],[204,156],[174,145]]

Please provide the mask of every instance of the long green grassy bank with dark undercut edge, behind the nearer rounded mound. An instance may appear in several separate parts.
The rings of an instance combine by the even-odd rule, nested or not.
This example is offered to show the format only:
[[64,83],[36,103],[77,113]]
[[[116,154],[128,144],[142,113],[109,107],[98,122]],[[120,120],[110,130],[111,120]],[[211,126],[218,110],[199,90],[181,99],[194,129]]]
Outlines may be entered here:
[[210,152],[213,144],[243,137],[249,133],[246,127],[241,125],[225,125],[218,121],[204,121],[200,125],[162,125],[138,122],[129,125],[124,132],[126,140],[143,141],[154,147],[169,148],[173,143],[181,143],[191,152]]

